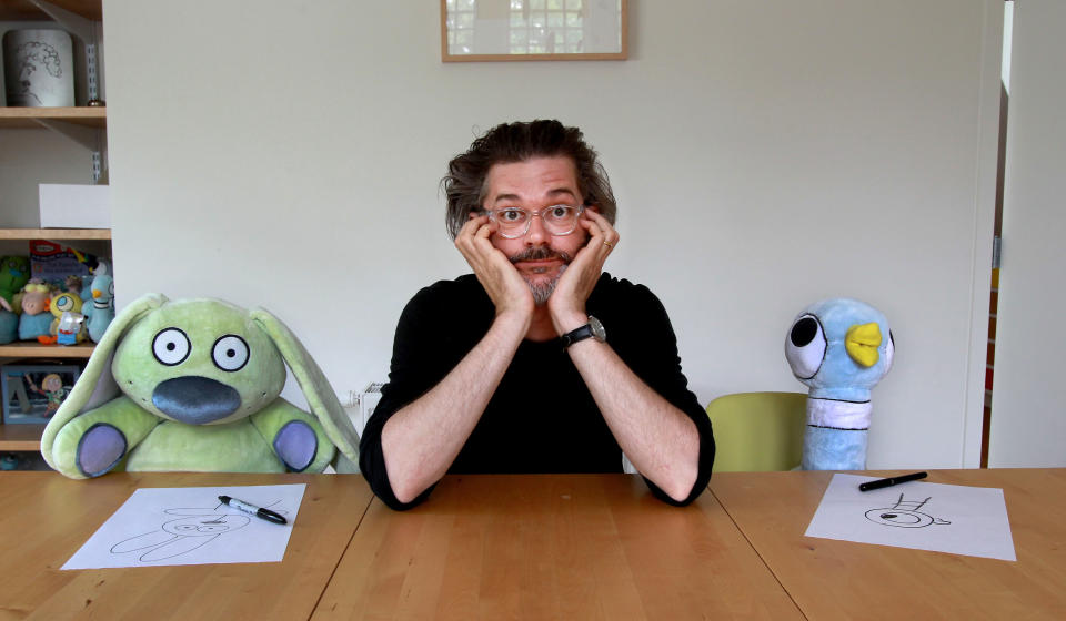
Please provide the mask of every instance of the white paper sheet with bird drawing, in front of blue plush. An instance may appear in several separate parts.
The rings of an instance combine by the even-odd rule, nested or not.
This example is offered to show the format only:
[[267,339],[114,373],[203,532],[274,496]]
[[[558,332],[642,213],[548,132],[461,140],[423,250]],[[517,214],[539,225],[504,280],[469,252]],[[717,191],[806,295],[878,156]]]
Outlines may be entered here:
[[907,482],[858,491],[873,480],[833,475],[805,535],[1017,560],[1002,489]]

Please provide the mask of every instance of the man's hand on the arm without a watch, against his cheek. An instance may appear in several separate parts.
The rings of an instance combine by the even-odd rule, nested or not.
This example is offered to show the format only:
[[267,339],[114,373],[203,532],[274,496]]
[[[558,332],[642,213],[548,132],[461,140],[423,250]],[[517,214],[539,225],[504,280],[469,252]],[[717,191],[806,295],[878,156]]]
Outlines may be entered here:
[[533,293],[507,256],[489,241],[494,227],[489,216],[471,214],[455,237],[455,247],[496,306],[496,316],[514,314],[529,326],[533,317]]

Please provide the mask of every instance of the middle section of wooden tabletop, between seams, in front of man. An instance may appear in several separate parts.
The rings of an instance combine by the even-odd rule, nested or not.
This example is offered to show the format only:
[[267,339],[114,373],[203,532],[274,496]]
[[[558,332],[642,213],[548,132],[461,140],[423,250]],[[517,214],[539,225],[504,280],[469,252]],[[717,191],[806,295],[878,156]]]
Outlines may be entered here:
[[371,503],[313,619],[802,619],[717,500],[624,475],[449,476]]

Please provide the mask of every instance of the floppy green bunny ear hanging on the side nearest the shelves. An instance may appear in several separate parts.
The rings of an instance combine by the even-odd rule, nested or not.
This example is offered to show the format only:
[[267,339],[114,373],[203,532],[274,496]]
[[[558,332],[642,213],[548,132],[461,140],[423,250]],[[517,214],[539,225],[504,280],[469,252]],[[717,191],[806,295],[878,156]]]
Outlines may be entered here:
[[53,469],[59,470],[52,462],[52,442],[59,430],[83,411],[97,408],[119,396],[119,387],[111,375],[111,359],[114,350],[125,332],[142,317],[154,312],[168,302],[167,296],[159,293],[143,295],[130,303],[108,326],[103,338],[92,350],[92,356],[86,364],[86,369],[73,389],[63,399],[56,414],[44,427],[41,436],[41,456]]

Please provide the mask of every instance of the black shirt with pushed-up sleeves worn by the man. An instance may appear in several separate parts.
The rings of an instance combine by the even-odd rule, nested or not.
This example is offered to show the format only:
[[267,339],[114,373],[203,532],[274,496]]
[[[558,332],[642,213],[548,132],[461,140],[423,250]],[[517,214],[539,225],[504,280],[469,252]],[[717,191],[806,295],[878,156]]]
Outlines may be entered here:
[[[586,309],[603,323],[607,344],[653,390],[681,409],[700,432],[700,471],[682,502],[647,481],[673,505],[695,500],[711,479],[711,423],[681,370],[677,343],[658,298],[643,285],[604,273]],[[495,306],[472,274],[420,291],[400,317],[389,384],[360,441],[360,468],[371,489],[393,509],[400,502],[389,483],[381,430],[396,410],[436,386],[485,336]],[[622,449],[584,380],[557,340],[523,342],[481,419],[449,472],[621,472]]]

